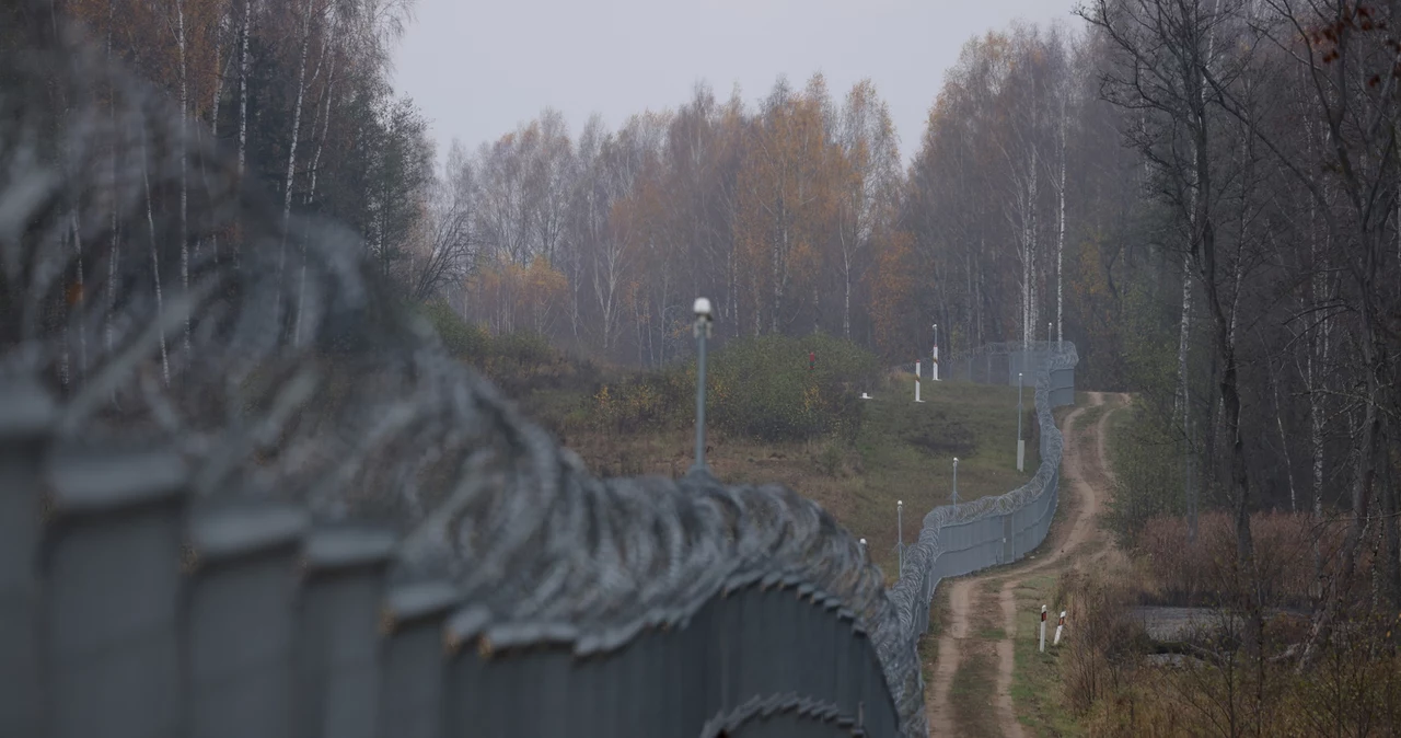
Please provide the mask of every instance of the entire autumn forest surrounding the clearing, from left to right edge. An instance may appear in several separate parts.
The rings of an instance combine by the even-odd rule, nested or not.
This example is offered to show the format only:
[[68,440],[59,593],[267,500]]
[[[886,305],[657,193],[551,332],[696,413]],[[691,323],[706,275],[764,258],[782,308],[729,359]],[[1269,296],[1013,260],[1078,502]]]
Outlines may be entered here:
[[[696,295],[722,346],[820,332],[905,363],[930,323],[944,356],[1073,340],[1083,387],[1136,396],[1125,541],[1224,514],[1223,597],[1262,641],[1252,521],[1311,521],[1304,665],[1360,612],[1401,612],[1401,4],[1086,0],[969,39],[915,141],[876,80],[814,74],[699,83],[577,136],[546,108],[447,151],[389,83],[412,0],[60,6],[284,217],[350,227],[408,304],[647,368],[691,358]],[[147,210],[179,218],[202,186]],[[184,232],[150,249],[238,259]],[[297,259],[293,235],[275,277]]]

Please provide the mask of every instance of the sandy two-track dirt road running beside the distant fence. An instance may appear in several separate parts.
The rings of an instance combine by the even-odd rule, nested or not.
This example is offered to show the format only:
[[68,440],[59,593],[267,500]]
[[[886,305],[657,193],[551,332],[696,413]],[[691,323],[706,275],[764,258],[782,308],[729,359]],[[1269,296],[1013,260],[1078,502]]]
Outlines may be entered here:
[[[960,735],[955,710],[951,702],[951,686],[958,667],[969,653],[995,660],[996,676],[991,707],[996,714],[998,732],[1006,737],[1023,737],[1012,704],[1012,671],[1014,665],[1013,643],[1017,637],[1017,609],[1014,590],[1030,574],[1061,562],[1066,552],[1093,546],[1096,559],[1108,553],[1110,546],[1101,535],[1096,518],[1107,499],[1112,473],[1105,458],[1104,437],[1110,416],[1126,403],[1126,398],[1114,395],[1114,402],[1104,410],[1089,433],[1076,429],[1076,422],[1086,408],[1076,408],[1062,427],[1065,455],[1061,459],[1062,504],[1069,503],[1069,525],[1062,522],[1051,529],[1045,543],[1021,563],[999,569],[988,574],[974,574],[950,581],[948,622],[939,637],[939,657],[934,662],[934,679],[929,690],[929,724],[934,735]],[[1105,403],[1100,392],[1090,392],[1091,408]],[[1069,492],[1070,494],[1066,494]],[[1000,611],[1000,637],[972,639],[969,623],[984,597],[992,597],[989,587],[996,587],[996,606]],[[996,632],[993,632],[996,633]],[[991,653],[988,653],[992,640]]]

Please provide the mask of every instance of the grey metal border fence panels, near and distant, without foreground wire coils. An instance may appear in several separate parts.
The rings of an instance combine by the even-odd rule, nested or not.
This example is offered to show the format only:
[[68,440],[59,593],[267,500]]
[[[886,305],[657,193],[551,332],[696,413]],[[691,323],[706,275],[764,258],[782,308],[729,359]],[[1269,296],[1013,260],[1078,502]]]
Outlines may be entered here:
[[[975,361],[989,356],[1003,354]],[[1061,461],[1051,398],[1073,398],[1075,363],[1073,346],[1026,360],[1041,466],[1017,490],[925,517],[888,591],[898,630],[880,633],[810,578],[762,567],[608,637],[493,622],[451,580],[392,581],[384,531],[272,501],[195,504],[174,454],[53,443],[53,405],[11,382],[0,732],[922,735],[918,676],[899,675],[919,674],[940,580],[1045,538]]]

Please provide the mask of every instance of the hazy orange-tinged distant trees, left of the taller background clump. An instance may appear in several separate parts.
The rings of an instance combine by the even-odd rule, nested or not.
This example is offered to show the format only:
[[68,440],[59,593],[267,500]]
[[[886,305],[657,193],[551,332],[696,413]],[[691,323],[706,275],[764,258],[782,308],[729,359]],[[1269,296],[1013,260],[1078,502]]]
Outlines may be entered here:
[[674,111],[572,140],[545,111],[447,158],[469,213],[472,272],[455,305],[493,330],[531,329],[611,360],[691,351],[691,302],[722,340],[832,335],[887,344],[874,252],[898,241],[899,153],[863,81],[779,81],[758,109],[698,85]]

